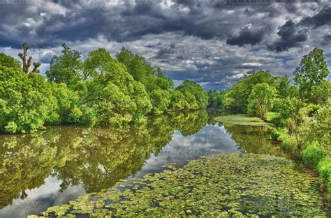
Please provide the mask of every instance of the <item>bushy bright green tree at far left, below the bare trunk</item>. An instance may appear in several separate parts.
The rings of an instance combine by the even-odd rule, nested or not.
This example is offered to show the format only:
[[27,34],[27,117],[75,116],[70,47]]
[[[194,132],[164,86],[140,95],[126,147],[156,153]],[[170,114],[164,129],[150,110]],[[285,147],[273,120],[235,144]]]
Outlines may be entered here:
[[0,130],[31,132],[54,116],[56,102],[45,77],[0,66]]

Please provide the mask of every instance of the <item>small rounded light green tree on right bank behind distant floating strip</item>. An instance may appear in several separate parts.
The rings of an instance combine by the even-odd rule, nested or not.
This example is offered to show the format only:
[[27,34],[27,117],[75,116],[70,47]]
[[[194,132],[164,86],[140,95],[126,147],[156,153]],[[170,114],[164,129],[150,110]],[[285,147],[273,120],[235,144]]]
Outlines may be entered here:
[[265,120],[268,110],[273,106],[275,95],[276,89],[269,84],[256,84],[248,99],[249,114],[257,115],[259,118]]

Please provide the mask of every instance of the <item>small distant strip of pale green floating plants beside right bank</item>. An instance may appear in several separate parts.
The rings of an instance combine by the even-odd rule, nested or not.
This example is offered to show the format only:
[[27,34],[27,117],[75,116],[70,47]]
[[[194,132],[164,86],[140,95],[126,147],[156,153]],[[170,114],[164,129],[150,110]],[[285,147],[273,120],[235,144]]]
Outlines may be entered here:
[[247,114],[219,116],[216,117],[215,120],[219,123],[230,123],[235,125],[272,127],[270,123],[265,123],[265,121],[263,121],[262,119],[257,117],[251,117]]

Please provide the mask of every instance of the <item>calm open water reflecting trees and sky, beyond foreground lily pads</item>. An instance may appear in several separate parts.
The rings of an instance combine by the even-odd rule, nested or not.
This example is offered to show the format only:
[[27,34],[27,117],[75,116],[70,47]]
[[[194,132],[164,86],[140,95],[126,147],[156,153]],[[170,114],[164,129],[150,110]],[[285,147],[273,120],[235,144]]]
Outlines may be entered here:
[[216,153],[284,155],[265,127],[221,125],[206,111],[149,118],[140,127],[48,127],[0,136],[0,217],[38,215],[85,192]]

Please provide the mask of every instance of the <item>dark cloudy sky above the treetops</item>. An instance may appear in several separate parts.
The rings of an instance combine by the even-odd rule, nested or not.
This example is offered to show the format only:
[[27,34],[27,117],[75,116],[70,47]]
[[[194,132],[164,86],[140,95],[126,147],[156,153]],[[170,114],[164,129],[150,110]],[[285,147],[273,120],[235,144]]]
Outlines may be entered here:
[[292,75],[314,47],[331,65],[329,0],[0,0],[0,15],[0,52],[17,56],[28,42],[42,72],[63,42],[83,57],[125,46],[175,84],[205,89],[260,69]]

